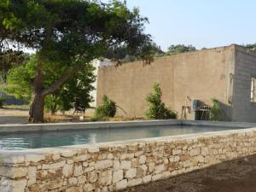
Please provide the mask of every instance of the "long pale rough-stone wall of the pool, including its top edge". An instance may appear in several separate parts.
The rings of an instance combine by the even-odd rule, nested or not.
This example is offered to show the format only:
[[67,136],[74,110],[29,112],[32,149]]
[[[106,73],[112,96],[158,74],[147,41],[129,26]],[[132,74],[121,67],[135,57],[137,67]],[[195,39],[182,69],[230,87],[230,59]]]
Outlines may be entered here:
[[1,152],[1,192],[105,192],[256,153],[256,128]]

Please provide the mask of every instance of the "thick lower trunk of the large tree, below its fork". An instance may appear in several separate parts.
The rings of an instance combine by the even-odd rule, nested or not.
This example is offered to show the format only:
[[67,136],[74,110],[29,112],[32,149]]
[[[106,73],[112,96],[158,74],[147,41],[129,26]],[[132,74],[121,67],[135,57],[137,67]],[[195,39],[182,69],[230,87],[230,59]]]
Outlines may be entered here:
[[29,110],[29,122],[44,123],[44,96],[35,94]]

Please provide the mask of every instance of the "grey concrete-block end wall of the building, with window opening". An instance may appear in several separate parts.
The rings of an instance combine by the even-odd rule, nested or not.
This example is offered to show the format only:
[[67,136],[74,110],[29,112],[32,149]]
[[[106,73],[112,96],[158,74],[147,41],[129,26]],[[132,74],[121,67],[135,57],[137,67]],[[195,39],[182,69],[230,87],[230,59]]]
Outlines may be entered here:
[[251,102],[251,78],[256,78],[256,54],[236,45],[233,120],[256,122],[256,103]]

